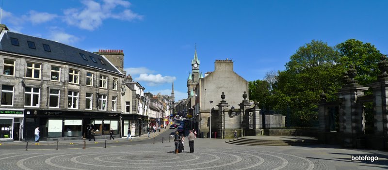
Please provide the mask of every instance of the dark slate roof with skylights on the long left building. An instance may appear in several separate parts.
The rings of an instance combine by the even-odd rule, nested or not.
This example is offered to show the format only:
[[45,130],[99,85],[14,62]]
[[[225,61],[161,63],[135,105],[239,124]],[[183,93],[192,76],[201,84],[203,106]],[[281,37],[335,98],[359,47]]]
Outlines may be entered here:
[[[114,73],[122,74],[105,57],[92,52],[88,52],[73,46],[68,46],[59,42],[33,37],[25,34],[20,34],[12,31],[1,31],[1,35],[0,35],[1,36],[0,51],[23,54],[23,55],[63,61],[63,62],[71,62],[75,64],[81,64],[84,66],[97,67],[100,69],[112,71]],[[11,38],[18,39],[19,46],[12,45]],[[29,48],[27,41],[34,42],[36,49]],[[43,44],[49,45],[51,52],[45,51],[43,48]],[[80,53],[85,55],[87,61],[82,59],[82,57],[80,56]],[[97,63],[93,62],[89,56],[94,57]],[[103,65],[100,62],[100,60],[105,62],[105,65]]]

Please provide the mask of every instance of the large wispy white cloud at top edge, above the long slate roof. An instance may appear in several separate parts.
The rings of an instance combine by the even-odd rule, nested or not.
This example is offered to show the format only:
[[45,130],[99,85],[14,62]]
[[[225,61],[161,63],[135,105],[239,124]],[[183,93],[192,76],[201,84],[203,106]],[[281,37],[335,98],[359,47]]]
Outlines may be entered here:
[[[128,9],[130,3],[125,0],[104,0],[101,4],[94,0],[83,0],[81,3],[84,5],[84,8],[81,10],[70,8],[64,11],[64,20],[67,24],[93,31],[102,24],[103,20],[109,18],[128,21],[143,19],[142,15],[133,13]],[[124,7],[126,9],[116,12],[118,11],[116,7]]]

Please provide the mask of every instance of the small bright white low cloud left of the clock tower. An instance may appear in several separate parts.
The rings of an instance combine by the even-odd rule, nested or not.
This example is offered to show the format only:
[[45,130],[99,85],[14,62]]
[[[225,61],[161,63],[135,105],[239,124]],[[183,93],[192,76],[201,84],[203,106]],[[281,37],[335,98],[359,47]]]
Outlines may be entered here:
[[134,78],[135,81],[144,81],[149,86],[157,86],[164,83],[171,83],[176,80],[176,77],[171,76],[162,76],[161,74],[153,75],[153,74],[140,74],[139,77]]

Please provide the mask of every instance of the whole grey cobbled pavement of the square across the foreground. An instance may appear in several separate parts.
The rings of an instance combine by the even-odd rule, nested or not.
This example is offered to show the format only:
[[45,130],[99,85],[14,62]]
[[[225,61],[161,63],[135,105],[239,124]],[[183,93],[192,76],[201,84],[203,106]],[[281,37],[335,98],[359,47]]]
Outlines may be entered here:
[[[0,170],[380,170],[388,153],[335,146],[239,146],[223,139],[195,139],[193,154],[175,154],[174,143],[87,149],[0,149]],[[333,148],[334,147],[334,148]],[[379,160],[351,161],[351,155]]]

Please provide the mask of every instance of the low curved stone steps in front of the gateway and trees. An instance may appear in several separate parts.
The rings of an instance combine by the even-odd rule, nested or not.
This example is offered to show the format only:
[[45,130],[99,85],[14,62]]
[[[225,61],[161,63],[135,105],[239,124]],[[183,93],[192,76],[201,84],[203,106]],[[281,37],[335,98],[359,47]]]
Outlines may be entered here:
[[251,138],[237,138],[226,141],[229,144],[236,145],[266,145],[266,146],[289,146],[289,145],[309,145],[319,144],[316,139],[251,139]]

